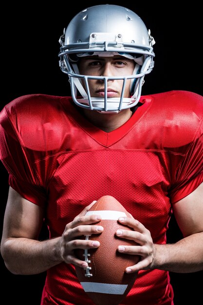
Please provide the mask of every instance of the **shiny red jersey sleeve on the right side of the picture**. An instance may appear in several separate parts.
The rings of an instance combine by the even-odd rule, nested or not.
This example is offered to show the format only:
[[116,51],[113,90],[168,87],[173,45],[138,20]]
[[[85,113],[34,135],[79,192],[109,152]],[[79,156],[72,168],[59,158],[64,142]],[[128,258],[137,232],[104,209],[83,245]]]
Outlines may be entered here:
[[203,121],[186,151],[185,158],[176,170],[175,182],[170,190],[171,203],[175,203],[189,195],[202,182]]

